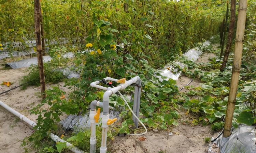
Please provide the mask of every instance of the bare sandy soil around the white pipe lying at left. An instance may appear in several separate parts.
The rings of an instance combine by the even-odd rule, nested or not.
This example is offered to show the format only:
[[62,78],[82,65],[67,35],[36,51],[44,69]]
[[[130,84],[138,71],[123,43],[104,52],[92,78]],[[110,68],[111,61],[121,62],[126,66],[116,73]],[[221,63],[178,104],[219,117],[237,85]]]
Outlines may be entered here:
[[[10,87],[0,85],[0,92],[19,85],[19,81],[27,73],[27,68],[0,70],[0,83],[2,81],[10,81],[14,83]],[[63,87],[63,83],[59,83],[58,85],[62,90],[68,91],[68,87]],[[51,88],[51,85],[47,85],[46,88]],[[0,95],[0,100],[17,112],[35,121],[37,116],[30,115],[29,110],[40,103],[41,98],[39,96],[40,87],[30,86],[26,90],[16,88],[2,94]],[[22,143],[22,140],[31,135],[32,132],[33,130],[29,125],[20,121],[12,113],[0,106],[0,139],[2,139],[2,141],[0,141],[0,153],[24,152],[24,149],[23,147],[20,147],[20,144]]]

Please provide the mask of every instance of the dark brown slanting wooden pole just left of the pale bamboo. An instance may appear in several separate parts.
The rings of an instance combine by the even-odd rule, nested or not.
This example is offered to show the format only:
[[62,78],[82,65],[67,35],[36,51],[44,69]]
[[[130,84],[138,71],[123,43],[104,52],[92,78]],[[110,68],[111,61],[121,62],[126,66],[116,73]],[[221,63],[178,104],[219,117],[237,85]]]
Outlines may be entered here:
[[224,57],[223,57],[220,71],[224,70],[224,68],[226,67],[227,61],[228,61],[228,55],[229,55],[230,47],[231,47],[232,40],[233,40],[235,22],[236,22],[236,0],[231,0],[231,2],[230,2],[230,23],[229,23],[229,29],[228,29],[228,41],[227,41],[226,50],[224,52]]

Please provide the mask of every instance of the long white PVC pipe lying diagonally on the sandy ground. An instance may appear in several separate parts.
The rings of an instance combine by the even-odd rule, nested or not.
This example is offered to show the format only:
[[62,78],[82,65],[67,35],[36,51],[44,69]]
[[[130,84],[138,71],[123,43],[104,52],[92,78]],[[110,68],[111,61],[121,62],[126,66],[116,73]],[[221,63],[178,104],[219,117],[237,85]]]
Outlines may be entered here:
[[[29,118],[27,118],[26,116],[20,114],[19,112],[15,111],[14,109],[12,109],[11,107],[9,107],[8,105],[6,105],[5,103],[3,103],[0,100],[0,105],[5,108],[7,111],[11,112],[12,114],[14,114],[15,116],[17,116],[18,118],[20,118],[21,120],[23,120],[24,122],[28,123],[30,126],[32,126],[33,128],[37,125],[37,123],[35,123],[34,121],[31,121]],[[72,147],[69,150],[73,151],[74,153],[83,153],[83,151],[81,151],[80,149],[74,147],[71,143],[64,141],[63,139],[59,138],[57,135],[54,134],[50,134],[50,137],[53,141],[55,142],[66,142],[66,147]]]

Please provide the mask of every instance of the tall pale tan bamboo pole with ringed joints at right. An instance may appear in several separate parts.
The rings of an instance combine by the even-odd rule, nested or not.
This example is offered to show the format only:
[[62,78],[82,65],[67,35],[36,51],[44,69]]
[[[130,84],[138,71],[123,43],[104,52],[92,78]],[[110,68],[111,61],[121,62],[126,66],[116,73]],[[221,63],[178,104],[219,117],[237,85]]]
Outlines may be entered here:
[[245,29],[245,19],[246,19],[246,8],[247,0],[240,0],[237,18],[237,33],[236,33],[236,43],[234,48],[234,62],[232,68],[232,77],[230,84],[230,91],[228,96],[228,106],[224,124],[223,137],[230,136],[230,130],[232,125],[232,119],[234,114],[234,106],[237,97],[237,86],[240,74],[242,51],[243,51],[243,41],[244,41],[244,29]]

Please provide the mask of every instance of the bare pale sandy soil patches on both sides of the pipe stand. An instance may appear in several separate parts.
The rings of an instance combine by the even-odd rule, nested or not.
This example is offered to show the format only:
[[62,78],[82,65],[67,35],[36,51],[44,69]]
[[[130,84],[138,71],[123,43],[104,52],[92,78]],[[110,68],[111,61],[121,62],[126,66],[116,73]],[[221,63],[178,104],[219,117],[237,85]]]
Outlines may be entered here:
[[[212,53],[204,53],[197,62],[209,62],[208,58],[215,56]],[[0,61],[3,63],[3,61]],[[3,67],[0,67],[3,68]],[[21,78],[28,73],[27,68],[0,70],[0,83],[2,81],[11,81],[14,84],[11,87],[19,85]],[[177,80],[179,88],[190,82],[190,78],[181,76]],[[194,80],[190,85],[199,86],[200,81]],[[50,88],[51,85],[47,85]],[[59,83],[59,87],[64,91],[69,91],[68,87],[63,87],[63,83]],[[1,86],[0,92],[10,89],[10,87]],[[182,92],[186,92],[183,89]],[[16,111],[35,121],[37,116],[30,115],[29,109],[40,103],[40,87],[28,87],[26,90],[20,88],[14,89],[6,94],[0,95],[0,100],[11,106]],[[211,137],[213,133],[209,126],[194,126],[184,122],[190,122],[192,119],[184,115],[184,111],[180,112],[181,119],[178,120],[179,126],[170,129],[173,133],[168,137],[167,131],[153,132],[149,131],[145,136],[145,141],[140,141],[142,136],[126,136],[115,137],[110,148],[111,152],[125,153],[158,153],[159,151],[167,153],[201,153],[206,152],[208,145],[204,142],[205,137]],[[13,114],[0,107],[0,153],[20,153],[24,152],[20,147],[22,139],[31,135],[33,130],[29,125],[20,121]]]

